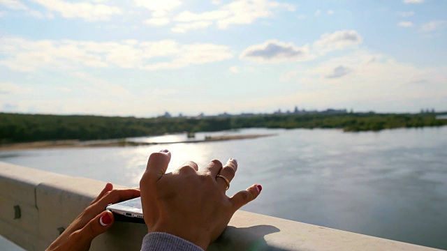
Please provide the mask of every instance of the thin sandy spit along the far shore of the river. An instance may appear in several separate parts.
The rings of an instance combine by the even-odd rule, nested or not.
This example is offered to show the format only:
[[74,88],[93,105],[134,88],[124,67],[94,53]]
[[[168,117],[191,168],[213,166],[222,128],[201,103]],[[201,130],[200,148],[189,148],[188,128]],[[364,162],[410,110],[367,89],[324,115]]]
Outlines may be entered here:
[[86,148],[86,147],[119,147],[119,146],[150,146],[155,144],[180,144],[180,143],[200,143],[200,142],[219,142],[235,139],[254,139],[258,137],[268,137],[270,135],[233,135],[207,137],[206,139],[185,140],[181,142],[132,142],[125,139],[103,140],[94,142],[82,142],[78,139],[71,140],[50,140],[42,142],[26,142],[1,144],[0,151],[18,151],[26,149],[68,149],[68,148]]

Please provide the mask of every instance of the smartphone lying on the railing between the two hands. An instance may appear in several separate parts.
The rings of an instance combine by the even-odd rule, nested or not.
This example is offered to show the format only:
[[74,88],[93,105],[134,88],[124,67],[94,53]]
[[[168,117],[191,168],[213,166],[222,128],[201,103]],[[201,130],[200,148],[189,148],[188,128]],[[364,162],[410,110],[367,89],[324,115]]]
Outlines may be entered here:
[[105,210],[112,212],[117,221],[145,223],[142,217],[141,197],[110,204]]

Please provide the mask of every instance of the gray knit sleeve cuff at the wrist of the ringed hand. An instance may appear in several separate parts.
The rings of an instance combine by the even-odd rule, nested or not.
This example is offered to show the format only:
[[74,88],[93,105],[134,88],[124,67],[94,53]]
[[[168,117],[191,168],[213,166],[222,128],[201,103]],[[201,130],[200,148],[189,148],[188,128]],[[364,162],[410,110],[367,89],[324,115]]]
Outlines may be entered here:
[[166,233],[146,234],[142,239],[141,251],[203,251],[198,245]]

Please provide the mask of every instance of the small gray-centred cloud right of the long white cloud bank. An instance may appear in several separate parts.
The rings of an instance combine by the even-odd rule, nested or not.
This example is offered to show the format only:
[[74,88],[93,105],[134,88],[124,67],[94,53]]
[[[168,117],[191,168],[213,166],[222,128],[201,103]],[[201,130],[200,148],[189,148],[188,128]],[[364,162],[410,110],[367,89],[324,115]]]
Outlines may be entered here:
[[309,47],[298,47],[293,43],[268,40],[261,45],[252,45],[240,54],[241,59],[261,62],[295,61],[307,59]]

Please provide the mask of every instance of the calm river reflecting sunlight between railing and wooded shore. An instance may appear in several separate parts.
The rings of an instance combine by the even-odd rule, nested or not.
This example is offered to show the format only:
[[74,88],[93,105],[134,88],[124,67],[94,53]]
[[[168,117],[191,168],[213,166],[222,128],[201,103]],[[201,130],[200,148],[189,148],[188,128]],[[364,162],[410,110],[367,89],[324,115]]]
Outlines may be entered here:
[[[194,144],[3,151],[0,161],[137,186],[149,153],[160,149],[172,152],[168,171],[186,160],[204,167],[213,158],[236,158],[239,169],[227,195],[254,183],[263,185],[245,211],[447,249],[447,126],[356,133],[259,128],[196,137],[240,134],[274,135]],[[132,140],[173,142],[184,137]]]

